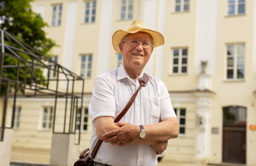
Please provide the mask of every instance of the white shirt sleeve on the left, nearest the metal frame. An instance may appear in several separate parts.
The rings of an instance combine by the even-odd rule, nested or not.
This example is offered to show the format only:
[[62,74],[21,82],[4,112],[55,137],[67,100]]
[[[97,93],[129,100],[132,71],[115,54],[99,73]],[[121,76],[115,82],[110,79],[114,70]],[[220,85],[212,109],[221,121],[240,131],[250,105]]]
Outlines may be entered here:
[[96,117],[115,117],[115,95],[110,80],[97,77],[93,87],[93,96],[88,110],[94,122]]

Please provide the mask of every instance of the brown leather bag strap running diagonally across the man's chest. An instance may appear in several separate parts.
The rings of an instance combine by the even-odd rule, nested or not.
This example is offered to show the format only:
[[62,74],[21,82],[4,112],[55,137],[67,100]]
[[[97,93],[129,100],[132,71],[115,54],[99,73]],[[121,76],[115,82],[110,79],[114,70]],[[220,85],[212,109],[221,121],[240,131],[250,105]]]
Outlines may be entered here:
[[[141,90],[141,87],[142,86],[147,86],[147,82],[148,82],[148,75],[146,73],[144,73],[144,75],[141,77],[140,79],[140,86],[139,88],[137,89],[137,91],[131,96],[131,99],[130,101],[128,101],[128,103],[126,104],[124,110],[122,112],[120,112],[119,116],[115,118],[115,122],[119,122],[120,119],[122,117],[125,116],[125,113],[128,112],[129,108],[131,107],[133,101],[135,101],[136,99],[136,96],[138,94],[138,92]],[[93,148],[93,152],[92,152],[92,158],[94,158],[99,150],[99,146],[100,144],[102,143],[102,140],[98,140],[98,142],[96,143],[95,147]]]

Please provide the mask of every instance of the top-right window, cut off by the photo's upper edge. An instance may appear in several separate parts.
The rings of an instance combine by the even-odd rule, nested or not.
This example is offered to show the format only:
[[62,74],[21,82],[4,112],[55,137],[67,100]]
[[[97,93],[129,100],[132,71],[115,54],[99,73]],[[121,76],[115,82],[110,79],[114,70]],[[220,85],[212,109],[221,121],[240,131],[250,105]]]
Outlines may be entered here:
[[227,0],[228,1],[228,8],[227,14],[228,15],[238,15],[245,13],[245,0]]

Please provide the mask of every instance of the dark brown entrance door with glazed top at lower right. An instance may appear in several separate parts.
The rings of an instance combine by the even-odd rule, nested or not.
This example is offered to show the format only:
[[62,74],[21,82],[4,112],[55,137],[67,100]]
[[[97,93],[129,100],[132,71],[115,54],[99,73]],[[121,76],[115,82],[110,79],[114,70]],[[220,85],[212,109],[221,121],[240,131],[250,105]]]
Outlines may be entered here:
[[223,107],[223,162],[246,163],[246,119],[245,107]]

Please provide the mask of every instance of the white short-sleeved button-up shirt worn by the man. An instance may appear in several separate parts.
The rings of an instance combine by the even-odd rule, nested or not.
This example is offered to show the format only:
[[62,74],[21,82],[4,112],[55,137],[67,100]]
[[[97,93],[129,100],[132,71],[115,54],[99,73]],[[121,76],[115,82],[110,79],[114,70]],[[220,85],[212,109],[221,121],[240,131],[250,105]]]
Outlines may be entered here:
[[[123,65],[99,75],[94,84],[89,115],[93,121],[91,152],[98,141],[94,120],[97,117],[117,117],[125,108],[131,96],[140,86],[139,79],[144,72],[131,80]],[[149,75],[147,86],[142,87],[120,122],[134,125],[154,124],[167,117],[176,117],[168,90],[163,81]],[[91,154],[89,154],[91,156]],[[130,145],[119,147],[111,143],[102,143],[94,161],[113,166],[157,165],[157,153],[150,145]]]

